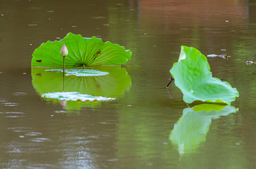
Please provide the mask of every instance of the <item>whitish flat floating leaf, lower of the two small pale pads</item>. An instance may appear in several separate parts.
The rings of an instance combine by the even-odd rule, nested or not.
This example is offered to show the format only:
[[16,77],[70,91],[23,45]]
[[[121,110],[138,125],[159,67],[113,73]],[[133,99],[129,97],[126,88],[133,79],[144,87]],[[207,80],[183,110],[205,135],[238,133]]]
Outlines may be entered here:
[[107,98],[101,96],[91,96],[88,94],[81,94],[79,92],[49,92],[42,94],[43,98],[68,100],[68,101],[111,101],[116,98]]

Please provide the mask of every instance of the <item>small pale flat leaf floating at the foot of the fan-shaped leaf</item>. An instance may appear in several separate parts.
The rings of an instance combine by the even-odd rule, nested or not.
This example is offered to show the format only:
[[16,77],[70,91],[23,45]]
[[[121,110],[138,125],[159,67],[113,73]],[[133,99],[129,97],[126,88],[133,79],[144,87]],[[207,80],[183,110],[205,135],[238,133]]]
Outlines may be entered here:
[[[63,72],[63,69],[47,69],[45,71]],[[109,74],[108,72],[102,72],[95,69],[65,69],[66,76],[90,77],[90,76],[104,76],[108,74]]]

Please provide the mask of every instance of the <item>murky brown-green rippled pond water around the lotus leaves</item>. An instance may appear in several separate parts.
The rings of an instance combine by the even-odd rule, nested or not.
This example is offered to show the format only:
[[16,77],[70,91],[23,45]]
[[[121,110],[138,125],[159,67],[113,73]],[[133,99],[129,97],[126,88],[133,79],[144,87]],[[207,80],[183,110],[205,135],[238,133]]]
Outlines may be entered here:
[[[256,61],[255,0],[8,0],[0,6],[0,168],[256,168],[256,65],[245,64]],[[43,76],[30,68],[32,53],[68,32],[132,51],[122,66],[124,84],[66,81],[70,90],[84,82],[116,100],[68,105],[41,98],[32,77]],[[214,77],[239,91],[231,104],[239,111],[191,112],[174,83],[165,88],[181,45],[231,55],[208,62]]]

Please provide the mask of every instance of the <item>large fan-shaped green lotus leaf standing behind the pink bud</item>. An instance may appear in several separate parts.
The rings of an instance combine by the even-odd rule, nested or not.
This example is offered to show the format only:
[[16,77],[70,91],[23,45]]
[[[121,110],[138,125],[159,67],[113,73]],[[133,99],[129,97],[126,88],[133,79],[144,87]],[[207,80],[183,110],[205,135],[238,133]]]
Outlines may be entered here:
[[95,67],[103,65],[126,64],[131,59],[132,52],[124,46],[102,42],[100,38],[83,38],[81,35],[68,33],[65,38],[54,42],[42,43],[34,50],[32,67],[63,67],[63,57],[60,54],[65,44],[68,54],[65,57],[66,68]]

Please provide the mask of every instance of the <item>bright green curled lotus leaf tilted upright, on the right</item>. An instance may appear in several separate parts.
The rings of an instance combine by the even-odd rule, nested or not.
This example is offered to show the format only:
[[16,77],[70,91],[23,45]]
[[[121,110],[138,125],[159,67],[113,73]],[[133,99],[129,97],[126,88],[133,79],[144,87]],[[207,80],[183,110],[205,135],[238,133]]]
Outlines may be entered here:
[[193,47],[182,46],[179,61],[170,72],[187,103],[201,100],[230,104],[239,96],[237,89],[228,82],[212,77],[206,56]]

